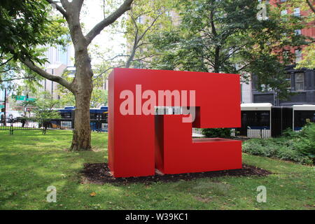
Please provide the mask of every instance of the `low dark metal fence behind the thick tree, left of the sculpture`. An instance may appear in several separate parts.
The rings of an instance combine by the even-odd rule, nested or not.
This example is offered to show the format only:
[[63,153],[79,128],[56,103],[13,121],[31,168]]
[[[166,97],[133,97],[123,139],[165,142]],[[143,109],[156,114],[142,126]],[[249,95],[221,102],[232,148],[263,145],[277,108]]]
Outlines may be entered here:
[[[92,131],[107,132],[106,120],[90,120]],[[6,118],[0,120],[0,131],[9,131],[13,134],[19,130],[41,130],[43,134],[47,130],[73,130],[74,120],[72,119],[41,119],[41,118]]]

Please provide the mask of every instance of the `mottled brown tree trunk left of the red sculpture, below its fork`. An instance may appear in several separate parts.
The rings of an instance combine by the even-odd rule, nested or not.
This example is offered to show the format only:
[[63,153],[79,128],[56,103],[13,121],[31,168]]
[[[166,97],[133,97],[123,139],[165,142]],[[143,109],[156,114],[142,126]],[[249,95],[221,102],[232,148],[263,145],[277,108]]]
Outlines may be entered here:
[[91,150],[90,101],[93,90],[92,69],[87,49],[76,53],[76,111],[71,151]]

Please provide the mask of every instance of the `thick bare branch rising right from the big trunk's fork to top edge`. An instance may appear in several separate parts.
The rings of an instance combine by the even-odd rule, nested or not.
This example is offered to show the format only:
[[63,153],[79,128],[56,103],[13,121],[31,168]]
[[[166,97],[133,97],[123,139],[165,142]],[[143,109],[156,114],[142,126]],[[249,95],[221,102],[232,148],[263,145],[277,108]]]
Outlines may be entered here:
[[97,25],[95,25],[95,27],[91,29],[90,32],[85,36],[85,38],[87,39],[87,44],[91,43],[94,37],[100,34],[105,27],[111,25],[118,18],[120,18],[123,13],[125,13],[127,10],[130,10],[132,1],[134,0],[125,0],[124,3],[115,12],[99,22]]

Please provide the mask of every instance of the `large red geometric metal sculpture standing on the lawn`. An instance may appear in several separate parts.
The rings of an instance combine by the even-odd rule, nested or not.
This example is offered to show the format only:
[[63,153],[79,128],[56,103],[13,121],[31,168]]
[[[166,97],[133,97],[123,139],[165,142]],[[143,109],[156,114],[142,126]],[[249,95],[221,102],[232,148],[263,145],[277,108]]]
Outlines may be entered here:
[[[195,116],[155,115],[155,106],[187,107]],[[192,127],[239,127],[240,113],[238,75],[114,69],[109,168],[115,177],[241,169],[241,141],[192,138]]]

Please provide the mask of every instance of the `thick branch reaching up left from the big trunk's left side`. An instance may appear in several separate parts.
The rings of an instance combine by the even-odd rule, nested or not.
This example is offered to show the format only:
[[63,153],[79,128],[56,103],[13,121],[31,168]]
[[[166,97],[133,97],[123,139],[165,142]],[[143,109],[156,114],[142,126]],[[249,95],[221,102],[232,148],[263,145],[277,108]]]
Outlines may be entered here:
[[60,85],[63,85],[71,92],[75,92],[71,83],[69,83],[67,80],[64,80],[64,78],[60,76],[53,76],[52,74],[44,71],[40,67],[36,66],[33,62],[29,61],[28,59],[20,59],[20,61],[25,64],[31,71],[34,71],[38,73],[38,75],[42,76],[43,78],[47,78],[49,80],[52,80],[53,82],[59,83]]

